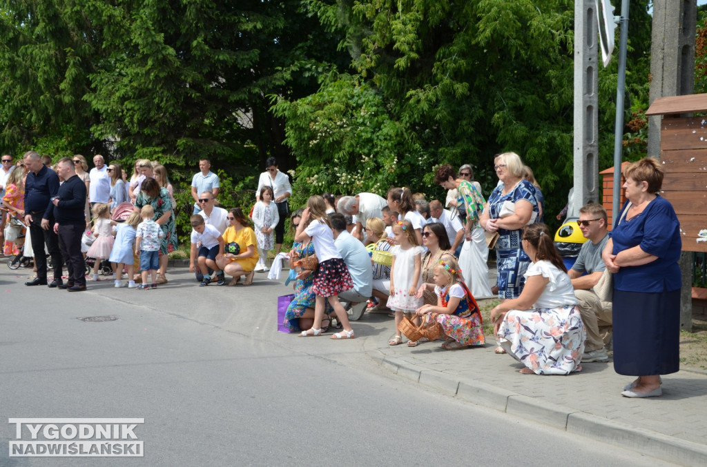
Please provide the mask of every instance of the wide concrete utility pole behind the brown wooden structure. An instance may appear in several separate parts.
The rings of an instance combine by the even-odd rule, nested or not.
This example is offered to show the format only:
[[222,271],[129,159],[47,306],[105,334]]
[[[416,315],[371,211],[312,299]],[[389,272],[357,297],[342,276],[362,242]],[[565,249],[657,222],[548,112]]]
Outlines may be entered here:
[[[653,1],[650,40],[650,103],[694,93],[697,0]],[[648,117],[648,155],[660,159],[660,118]],[[692,253],[682,252],[680,325],[692,329]]]

